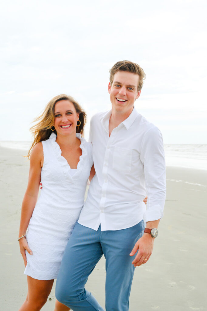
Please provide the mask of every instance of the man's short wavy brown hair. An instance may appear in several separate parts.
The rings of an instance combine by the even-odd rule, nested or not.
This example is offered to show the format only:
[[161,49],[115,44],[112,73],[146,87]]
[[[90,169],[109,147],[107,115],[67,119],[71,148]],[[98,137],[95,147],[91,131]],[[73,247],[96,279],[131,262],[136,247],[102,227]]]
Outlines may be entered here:
[[144,70],[140,67],[140,65],[130,62],[129,60],[121,60],[120,62],[117,62],[113,67],[109,70],[110,72],[110,78],[109,81],[112,85],[113,83],[113,77],[115,73],[118,71],[128,71],[135,73],[139,75],[139,82],[137,86],[137,91],[141,91],[141,88],[143,86],[143,80],[145,80],[145,72]]

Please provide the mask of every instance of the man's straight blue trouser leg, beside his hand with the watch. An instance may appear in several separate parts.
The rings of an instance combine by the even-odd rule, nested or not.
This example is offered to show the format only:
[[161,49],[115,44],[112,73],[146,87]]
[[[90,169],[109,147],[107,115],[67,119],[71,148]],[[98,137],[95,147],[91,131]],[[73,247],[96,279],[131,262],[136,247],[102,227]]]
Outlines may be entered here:
[[136,254],[131,257],[132,248],[144,233],[143,220],[127,229],[103,231],[101,246],[106,258],[106,311],[128,311],[131,283]]

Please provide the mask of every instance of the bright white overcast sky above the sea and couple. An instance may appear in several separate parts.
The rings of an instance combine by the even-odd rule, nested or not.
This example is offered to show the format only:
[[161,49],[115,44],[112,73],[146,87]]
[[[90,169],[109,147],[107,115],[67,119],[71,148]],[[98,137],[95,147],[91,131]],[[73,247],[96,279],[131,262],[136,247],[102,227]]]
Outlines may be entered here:
[[[207,143],[206,1],[9,1],[0,12],[0,140],[29,141],[53,96],[110,109],[109,68],[140,64],[136,109],[164,143]],[[89,122],[86,127],[88,135]]]

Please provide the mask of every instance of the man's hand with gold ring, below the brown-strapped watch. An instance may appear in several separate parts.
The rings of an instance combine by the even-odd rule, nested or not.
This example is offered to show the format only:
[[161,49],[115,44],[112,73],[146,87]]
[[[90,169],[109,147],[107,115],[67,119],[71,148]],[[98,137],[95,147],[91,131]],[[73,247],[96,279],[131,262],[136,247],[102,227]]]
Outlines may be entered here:
[[149,233],[144,233],[143,236],[136,242],[132,249],[130,256],[138,251],[135,259],[132,261],[134,267],[139,267],[143,263],[146,263],[151,256],[154,245],[154,238]]

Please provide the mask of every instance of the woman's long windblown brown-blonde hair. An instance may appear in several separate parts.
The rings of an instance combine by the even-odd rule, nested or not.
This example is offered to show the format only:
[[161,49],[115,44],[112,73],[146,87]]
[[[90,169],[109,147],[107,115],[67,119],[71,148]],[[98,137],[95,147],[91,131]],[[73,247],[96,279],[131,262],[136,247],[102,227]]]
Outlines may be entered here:
[[85,111],[81,108],[81,106],[72,96],[69,96],[66,94],[55,96],[53,97],[53,99],[51,99],[48,102],[43,113],[39,117],[35,118],[33,121],[37,123],[30,128],[30,131],[33,133],[33,136],[34,136],[34,141],[32,143],[32,146],[30,147],[30,150],[28,151],[28,155],[27,155],[28,158],[30,157],[32,148],[38,142],[42,142],[48,139],[51,133],[53,132],[57,135],[56,130],[52,131],[51,127],[54,125],[54,120],[55,120],[55,114],[54,114],[55,104],[60,100],[69,100],[71,103],[73,103],[77,114],[79,114],[79,120],[81,121],[80,126],[76,126],[76,133],[80,133],[81,136],[83,136],[84,126],[85,126],[86,118],[87,118]]

